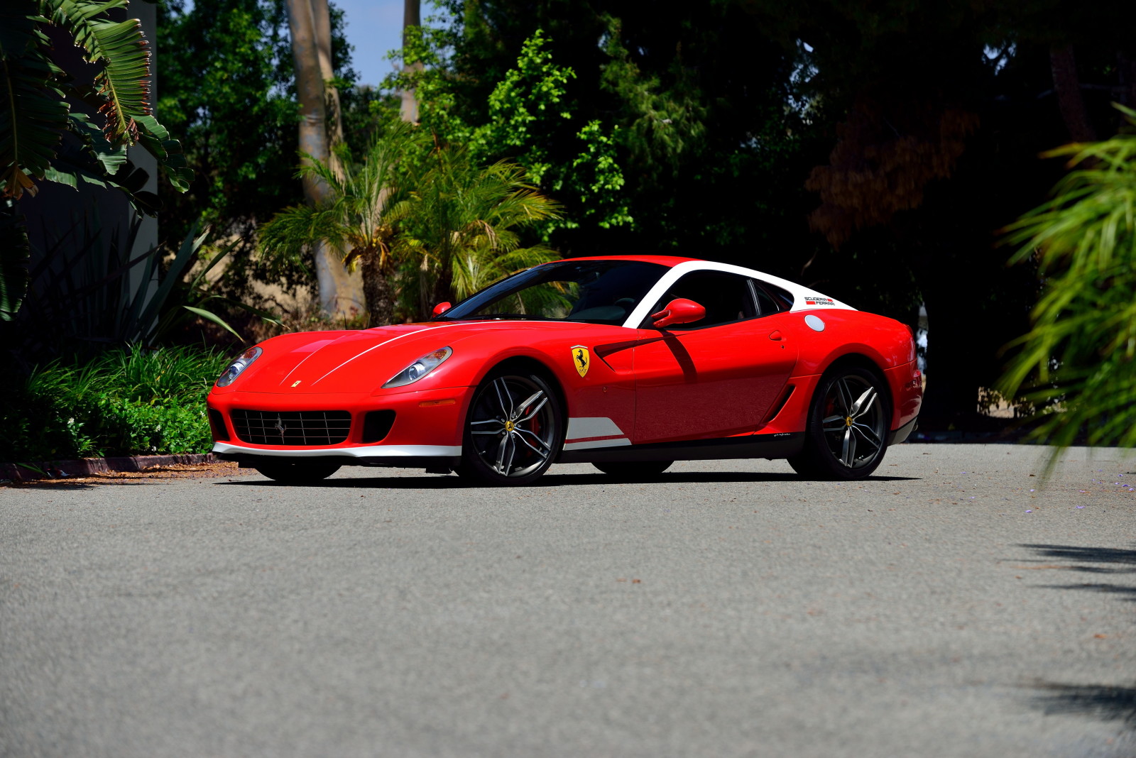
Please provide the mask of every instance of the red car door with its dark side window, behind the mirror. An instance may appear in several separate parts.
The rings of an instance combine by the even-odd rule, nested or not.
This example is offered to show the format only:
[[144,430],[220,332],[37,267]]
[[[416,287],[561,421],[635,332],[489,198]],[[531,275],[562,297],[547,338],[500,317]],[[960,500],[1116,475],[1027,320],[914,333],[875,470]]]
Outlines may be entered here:
[[[796,347],[778,329],[778,306],[747,277],[699,270],[680,277],[652,312],[676,297],[707,310],[688,325],[641,327],[635,347],[633,443],[751,433],[780,395]],[[763,309],[763,310],[762,310]]]

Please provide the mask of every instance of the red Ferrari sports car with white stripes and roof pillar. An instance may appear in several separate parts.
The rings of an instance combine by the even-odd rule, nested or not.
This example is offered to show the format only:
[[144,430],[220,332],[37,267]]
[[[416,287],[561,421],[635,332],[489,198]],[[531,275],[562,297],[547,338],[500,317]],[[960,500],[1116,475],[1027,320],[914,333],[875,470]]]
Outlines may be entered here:
[[425,323],[274,337],[208,406],[214,453],[281,481],[370,465],[527,485],[553,463],[650,478],[750,457],[859,479],[921,398],[899,321],[737,266],[627,255],[534,267]]

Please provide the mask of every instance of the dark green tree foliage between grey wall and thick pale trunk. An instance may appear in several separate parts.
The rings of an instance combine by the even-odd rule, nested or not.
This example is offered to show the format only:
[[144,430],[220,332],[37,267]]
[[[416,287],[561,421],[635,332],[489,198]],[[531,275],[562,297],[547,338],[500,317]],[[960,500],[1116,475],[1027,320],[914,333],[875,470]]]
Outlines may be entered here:
[[184,234],[199,222],[267,218],[298,200],[299,116],[283,3],[204,0],[159,12],[157,110],[183,135],[195,172],[186,195],[164,197],[164,221]]

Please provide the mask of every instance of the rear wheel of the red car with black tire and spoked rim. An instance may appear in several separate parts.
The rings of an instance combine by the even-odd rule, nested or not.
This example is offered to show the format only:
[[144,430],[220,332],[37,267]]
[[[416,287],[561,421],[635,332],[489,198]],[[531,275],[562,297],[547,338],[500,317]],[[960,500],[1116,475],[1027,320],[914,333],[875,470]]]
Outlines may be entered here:
[[809,406],[804,449],[788,464],[809,479],[869,477],[887,452],[891,421],[887,385],[878,372],[858,365],[830,369]]

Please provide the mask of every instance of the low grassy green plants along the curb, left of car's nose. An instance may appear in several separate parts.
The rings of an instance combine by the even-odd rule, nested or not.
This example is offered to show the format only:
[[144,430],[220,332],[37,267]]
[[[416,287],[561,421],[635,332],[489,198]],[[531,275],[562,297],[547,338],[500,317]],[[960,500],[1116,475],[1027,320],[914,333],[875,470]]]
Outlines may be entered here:
[[201,348],[118,348],[53,362],[0,405],[0,461],[204,453],[204,397],[227,356]]

